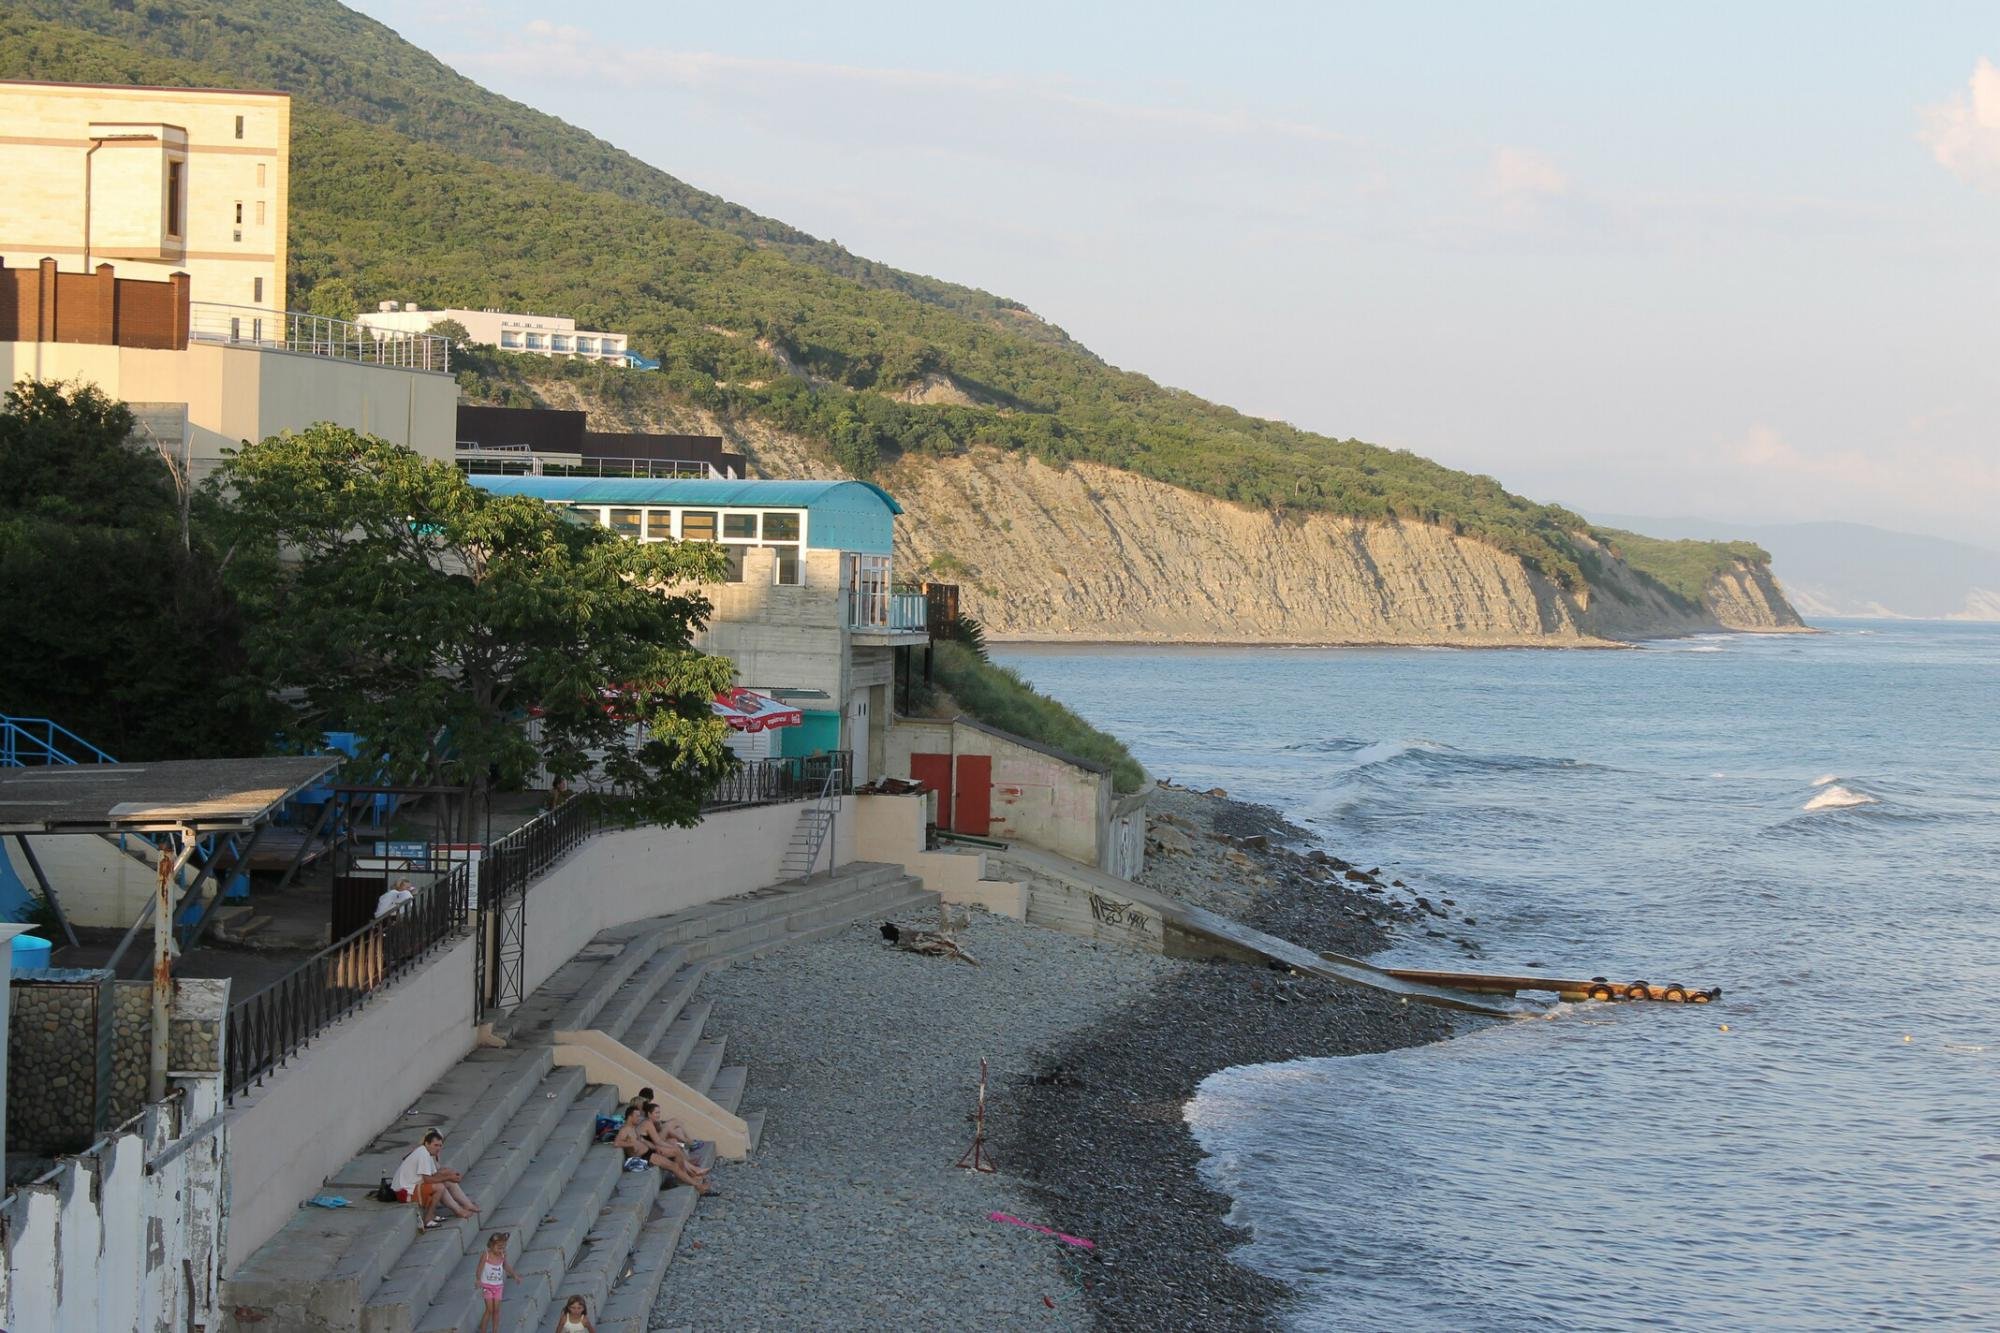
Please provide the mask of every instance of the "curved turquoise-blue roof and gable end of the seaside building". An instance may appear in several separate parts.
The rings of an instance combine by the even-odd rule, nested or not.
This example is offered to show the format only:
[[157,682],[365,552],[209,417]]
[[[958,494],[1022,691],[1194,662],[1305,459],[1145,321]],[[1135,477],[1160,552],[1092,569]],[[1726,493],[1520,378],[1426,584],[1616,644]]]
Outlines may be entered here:
[[524,494],[552,504],[802,508],[806,546],[892,554],[902,504],[860,480],[712,480],[646,476],[468,476],[492,494]]

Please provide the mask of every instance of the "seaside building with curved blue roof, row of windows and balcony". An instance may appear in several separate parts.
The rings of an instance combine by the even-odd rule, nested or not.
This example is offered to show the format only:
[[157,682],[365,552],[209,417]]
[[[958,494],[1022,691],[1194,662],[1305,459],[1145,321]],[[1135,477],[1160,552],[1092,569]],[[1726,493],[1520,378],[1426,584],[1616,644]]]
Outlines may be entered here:
[[[804,725],[738,737],[746,759],[850,751],[854,779],[884,773],[898,654],[930,638],[922,588],[894,576],[902,506],[862,480],[472,476],[494,494],[562,504],[640,542],[728,552],[698,640],[738,681],[804,713]],[[770,747],[768,751],[758,747]]]

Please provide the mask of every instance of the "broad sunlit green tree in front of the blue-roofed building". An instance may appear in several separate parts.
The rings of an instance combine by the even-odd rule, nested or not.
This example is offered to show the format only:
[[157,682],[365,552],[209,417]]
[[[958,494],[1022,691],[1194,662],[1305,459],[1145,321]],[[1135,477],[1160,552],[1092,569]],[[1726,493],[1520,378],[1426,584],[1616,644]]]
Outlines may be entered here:
[[700,817],[730,763],[708,703],[732,666],[692,646],[720,548],[630,542],[326,424],[244,446],[216,482],[250,660],[302,741],[356,731],[394,779],[468,787],[468,831],[494,783],[592,753],[634,815]]

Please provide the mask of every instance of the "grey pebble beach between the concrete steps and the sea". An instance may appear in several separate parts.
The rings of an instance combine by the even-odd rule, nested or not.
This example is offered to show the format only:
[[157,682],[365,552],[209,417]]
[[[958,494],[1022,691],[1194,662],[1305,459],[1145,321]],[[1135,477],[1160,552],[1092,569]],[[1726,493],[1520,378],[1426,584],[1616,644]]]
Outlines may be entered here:
[[[1424,915],[1264,807],[1162,785],[1150,825],[1148,885],[1312,949],[1368,953]],[[704,981],[764,1137],[718,1169],[652,1327],[1270,1325],[1288,1291],[1230,1261],[1244,1237],[1200,1179],[1182,1105],[1228,1065],[1438,1041],[1450,1019],[950,911],[976,965],[868,923]],[[994,1173],[956,1165],[980,1059]]]

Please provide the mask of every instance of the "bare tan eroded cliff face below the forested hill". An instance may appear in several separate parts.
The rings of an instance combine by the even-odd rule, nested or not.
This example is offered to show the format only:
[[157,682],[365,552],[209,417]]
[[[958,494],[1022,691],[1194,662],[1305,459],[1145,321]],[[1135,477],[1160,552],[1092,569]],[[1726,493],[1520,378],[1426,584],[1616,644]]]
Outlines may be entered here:
[[[764,476],[840,476],[806,438],[698,408],[590,408],[598,428],[722,434]],[[1714,628],[1796,628],[1770,570],[1744,564],[1688,608],[1608,550],[1584,594],[1424,522],[1268,512],[1100,464],[1022,454],[906,460],[902,578],[960,586],[994,638],[1152,642],[1602,644]]]

